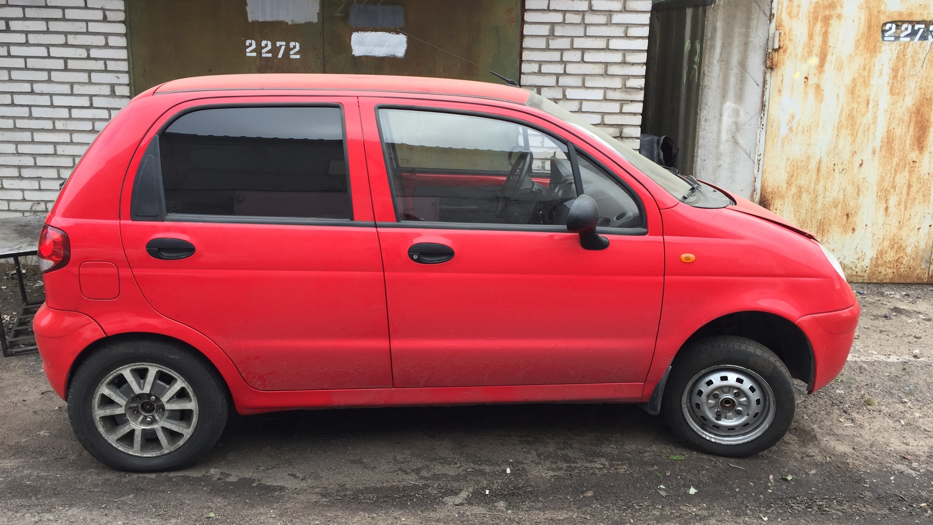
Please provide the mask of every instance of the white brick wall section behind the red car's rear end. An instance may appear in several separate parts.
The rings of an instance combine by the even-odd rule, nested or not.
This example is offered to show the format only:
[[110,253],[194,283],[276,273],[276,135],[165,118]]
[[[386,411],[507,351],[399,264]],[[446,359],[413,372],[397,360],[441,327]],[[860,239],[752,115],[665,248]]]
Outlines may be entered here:
[[45,212],[130,101],[123,0],[0,0],[0,217]]

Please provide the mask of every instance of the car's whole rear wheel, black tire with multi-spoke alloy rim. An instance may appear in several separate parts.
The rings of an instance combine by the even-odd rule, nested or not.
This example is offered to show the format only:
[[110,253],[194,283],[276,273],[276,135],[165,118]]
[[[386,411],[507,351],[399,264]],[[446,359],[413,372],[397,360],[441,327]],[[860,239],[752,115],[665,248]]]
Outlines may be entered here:
[[225,385],[188,348],[123,340],[82,362],[68,388],[72,428],[91,456],[118,470],[184,468],[227,422]]

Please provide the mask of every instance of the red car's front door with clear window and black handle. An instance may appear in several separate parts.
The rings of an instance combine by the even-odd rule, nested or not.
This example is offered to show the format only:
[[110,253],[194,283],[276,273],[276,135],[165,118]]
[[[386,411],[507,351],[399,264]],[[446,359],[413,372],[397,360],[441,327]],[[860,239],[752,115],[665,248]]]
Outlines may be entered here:
[[[360,99],[394,385],[643,382],[663,283],[648,193],[533,115],[425,104]],[[580,186],[606,249],[566,230]]]

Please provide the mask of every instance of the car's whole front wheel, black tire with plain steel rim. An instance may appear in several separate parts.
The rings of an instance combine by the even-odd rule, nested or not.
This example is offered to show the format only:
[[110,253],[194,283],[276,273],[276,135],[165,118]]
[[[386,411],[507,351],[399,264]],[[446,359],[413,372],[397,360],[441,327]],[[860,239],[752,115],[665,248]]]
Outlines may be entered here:
[[[728,391],[733,384],[741,396]],[[727,391],[720,393],[723,390]],[[734,335],[709,337],[681,350],[661,402],[668,427],[690,447],[733,458],[758,454],[780,441],[795,409],[794,387],[784,362],[763,345]]]

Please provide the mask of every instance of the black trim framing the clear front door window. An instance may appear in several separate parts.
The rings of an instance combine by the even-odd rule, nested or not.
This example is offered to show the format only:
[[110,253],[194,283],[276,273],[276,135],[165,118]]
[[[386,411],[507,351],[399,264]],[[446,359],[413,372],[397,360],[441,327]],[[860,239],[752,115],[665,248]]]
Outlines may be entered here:
[[[396,186],[393,177],[391,176],[389,170],[393,169],[391,166],[395,166],[395,169],[398,171],[400,166],[396,163],[390,163],[389,154],[385,148],[385,137],[383,136],[383,121],[380,119],[380,110],[382,109],[405,109],[411,111],[422,111],[426,113],[450,113],[453,115],[464,115],[467,117],[479,117],[484,119],[492,119],[496,121],[507,121],[513,124],[518,124],[520,126],[525,126],[531,128],[538,133],[548,135],[551,139],[564,144],[567,148],[567,157],[570,161],[571,169],[573,170],[574,175],[574,184],[577,185],[578,192],[582,192],[583,184],[581,181],[578,165],[578,155],[582,155],[589,163],[597,166],[602,169],[607,175],[609,175],[614,182],[620,185],[621,190],[628,193],[629,196],[635,203],[635,206],[638,207],[638,212],[642,217],[642,224],[638,227],[633,228],[610,228],[606,226],[601,226],[596,229],[600,234],[621,234],[621,235],[647,235],[648,234],[648,216],[645,213],[645,204],[642,202],[641,197],[638,196],[638,193],[634,192],[632,187],[625,182],[622,177],[614,171],[606,167],[605,163],[601,163],[596,159],[592,158],[592,155],[586,153],[585,151],[579,149],[579,147],[571,142],[564,136],[555,136],[554,133],[542,126],[539,126],[533,122],[522,121],[521,119],[516,119],[514,117],[509,117],[507,115],[496,115],[494,113],[483,113],[481,111],[472,111],[468,109],[456,109],[451,107],[435,107],[435,106],[413,106],[407,104],[377,104],[373,107],[376,115],[376,131],[379,133],[379,145],[380,149],[383,150],[383,163],[385,166],[385,176],[388,178],[389,192],[391,193],[390,197],[392,198],[392,207],[396,212],[396,222],[384,222],[377,221],[377,228],[425,228],[425,229],[435,229],[435,230],[492,230],[492,231],[519,231],[519,232],[550,232],[553,233],[555,230],[553,228],[560,228],[559,231],[566,232],[567,229],[565,226],[554,226],[550,224],[498,224],[493,222],[441,222],[441,221],[421,221],[421,220],[402,220],[401,219],[401,210],[398,209],[396,203]],[[394,156],[395,151],[393,150]],[[629,233],[631,231],[631,233]]]

